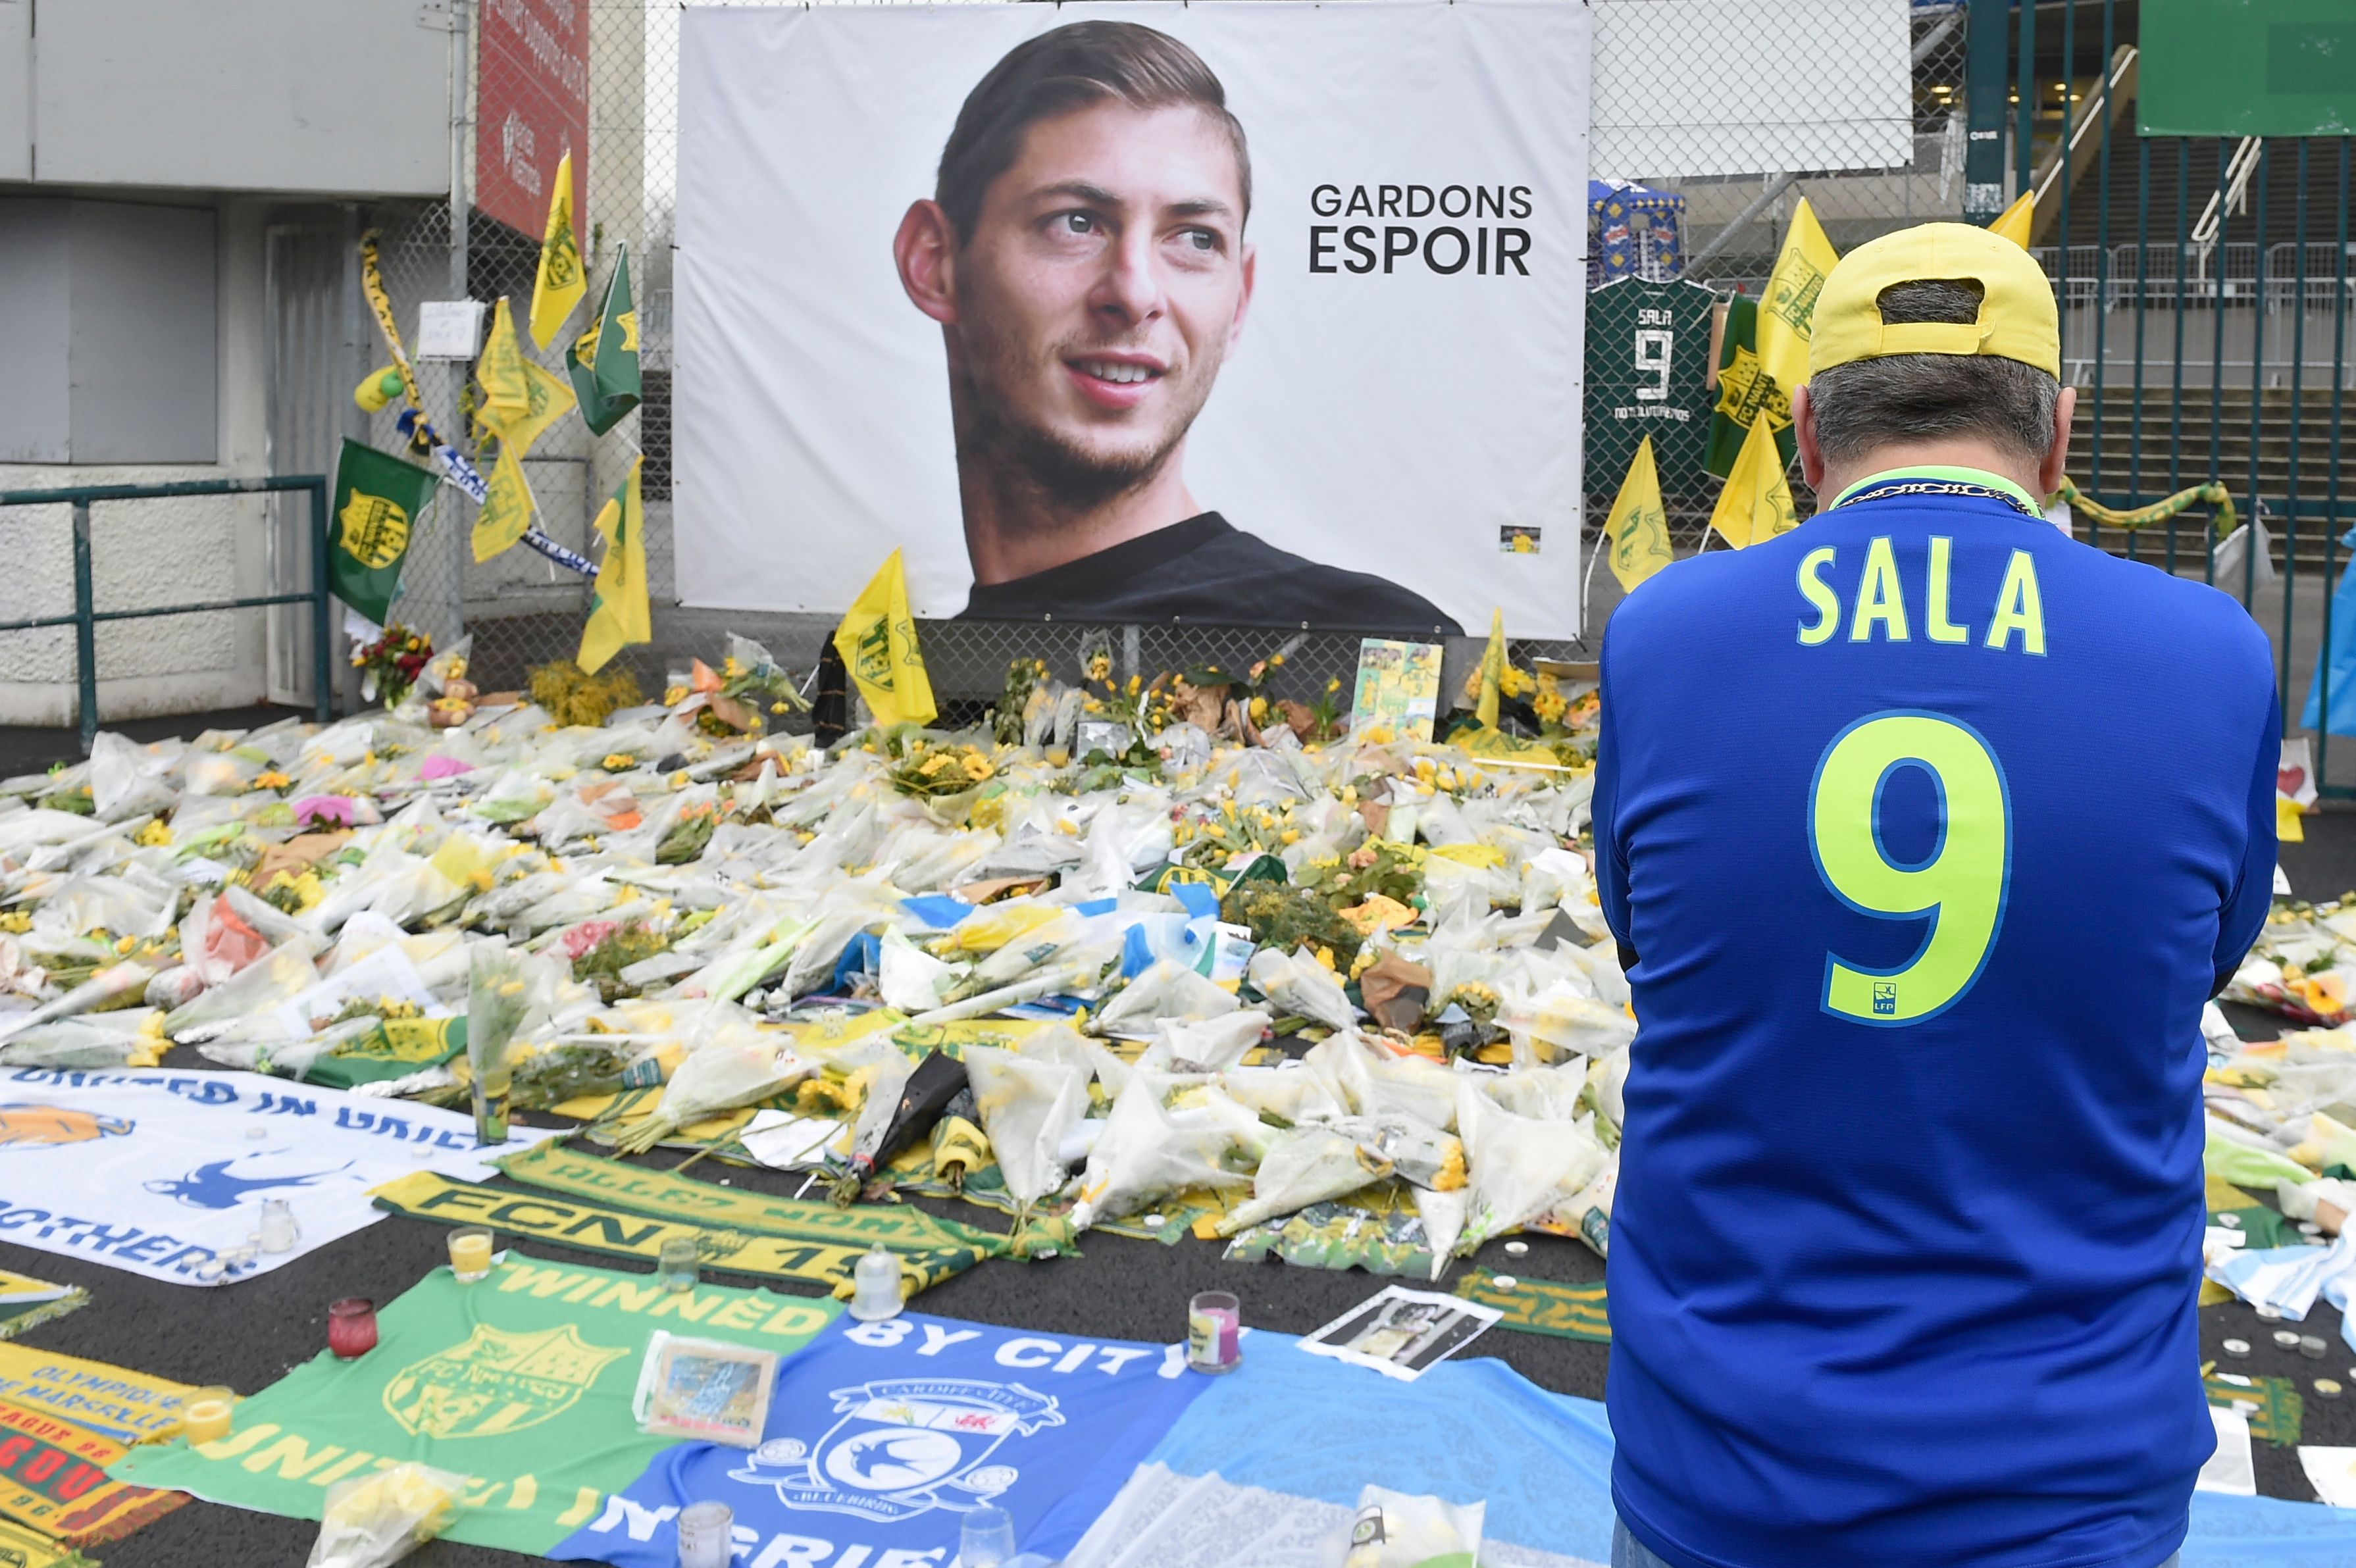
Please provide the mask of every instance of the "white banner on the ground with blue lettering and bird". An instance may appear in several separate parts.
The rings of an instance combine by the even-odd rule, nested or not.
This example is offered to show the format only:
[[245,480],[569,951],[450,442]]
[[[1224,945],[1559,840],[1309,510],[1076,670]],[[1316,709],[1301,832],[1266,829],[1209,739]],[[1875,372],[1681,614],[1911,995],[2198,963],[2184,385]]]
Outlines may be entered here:
[[[226,1285],[382,1220],[370,1187],[481,1180],[504,1151],[478,1149],[457,1111],[262,1074],[0,1071],[0,1241]],[[254,1245],[266,1198],[292,1208],[292,1250]]]

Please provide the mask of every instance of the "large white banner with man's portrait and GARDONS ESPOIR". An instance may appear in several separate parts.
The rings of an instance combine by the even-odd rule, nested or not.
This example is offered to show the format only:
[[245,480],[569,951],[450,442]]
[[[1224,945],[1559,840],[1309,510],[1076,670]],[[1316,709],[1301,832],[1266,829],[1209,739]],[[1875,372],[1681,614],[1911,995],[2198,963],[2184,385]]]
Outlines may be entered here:
[[686,603],[1579,631],[1586,7],[688,7],[679,94]]

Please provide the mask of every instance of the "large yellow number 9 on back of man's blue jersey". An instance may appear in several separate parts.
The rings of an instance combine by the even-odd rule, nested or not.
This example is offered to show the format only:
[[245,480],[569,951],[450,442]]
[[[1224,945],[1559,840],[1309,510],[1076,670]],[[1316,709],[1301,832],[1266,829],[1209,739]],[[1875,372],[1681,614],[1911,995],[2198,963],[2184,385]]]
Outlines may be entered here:
[[[1930,859],[1899,864],[1882,845],[1882,791],[1920,768],[1939,796]],[[1892,970],[1824,958],[1824,1010],[1859,1024],[1920,1024],[1946,1012],[1988,963],[2012,881],[2012,800],[1988,742],[1939,713],[1890,711],[1833,737],[1807,793],[1816,876],[1857,913],[1927,921],[1922,946]]]

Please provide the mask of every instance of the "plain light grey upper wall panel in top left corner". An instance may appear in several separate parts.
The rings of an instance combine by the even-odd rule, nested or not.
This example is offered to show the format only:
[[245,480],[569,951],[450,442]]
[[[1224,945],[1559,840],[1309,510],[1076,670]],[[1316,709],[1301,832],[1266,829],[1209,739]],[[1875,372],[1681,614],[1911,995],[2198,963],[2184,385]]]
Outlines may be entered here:
[[448,0],[0,0],[0,179],[448,191]]

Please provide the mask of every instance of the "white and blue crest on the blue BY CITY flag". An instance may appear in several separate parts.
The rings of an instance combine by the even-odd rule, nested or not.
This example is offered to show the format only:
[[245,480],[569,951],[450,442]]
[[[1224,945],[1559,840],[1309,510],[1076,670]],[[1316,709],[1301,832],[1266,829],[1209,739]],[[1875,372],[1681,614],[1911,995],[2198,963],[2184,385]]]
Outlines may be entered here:
[[888,1377],[834,1389],[841,1417],[818,1443],[770,1439],[730,1481],[770,1486],[789,1509],[898,1523],[990,1502],[1023,1474],[1006,1439],[1060,1427],[1063,1410],[1020,1382]]

